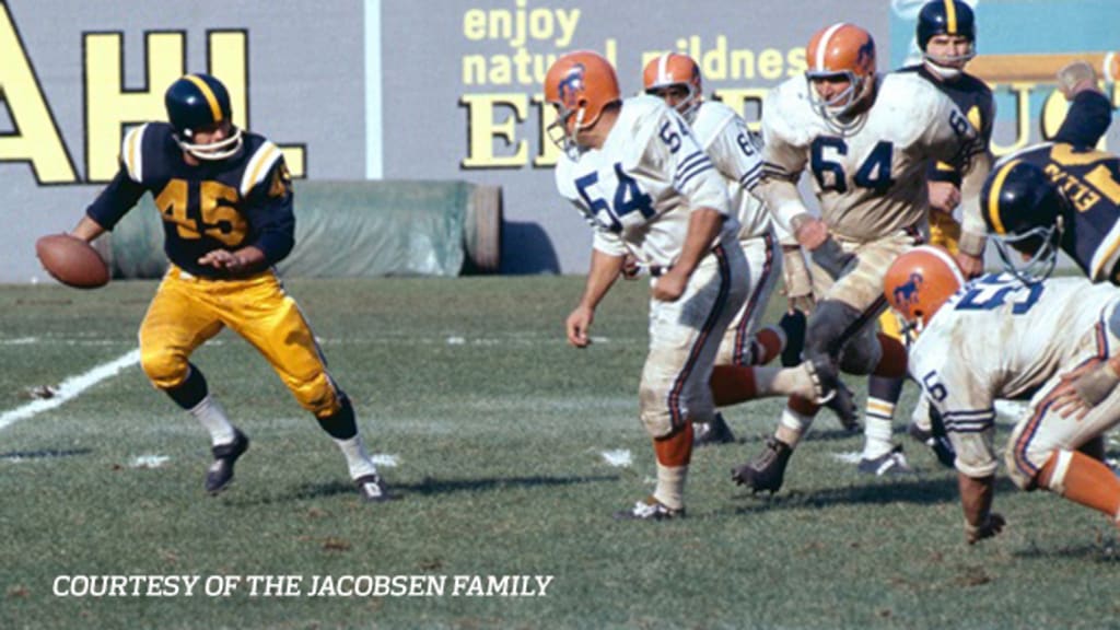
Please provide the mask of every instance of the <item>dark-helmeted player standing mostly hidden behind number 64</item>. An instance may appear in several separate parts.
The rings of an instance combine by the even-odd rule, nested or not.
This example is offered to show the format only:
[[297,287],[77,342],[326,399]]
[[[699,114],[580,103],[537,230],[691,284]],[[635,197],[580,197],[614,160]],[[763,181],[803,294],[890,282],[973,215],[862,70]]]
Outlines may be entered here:
[[[977,129],[986,151],[991,142],[996,104],[991,90],[983,81],[964,72],[965,64],[976,56],[977,26],[972,8],[960,0],[932,0],[917,16],[917,46],[922,63],[898,72],[913,73],[945,93],[968,121]],[[965,242],[961,252],[958,242],[961,225],[953,219],[953,211],[961,201],[961,174],[944,161],[931,161],[926,167],[930,196],[930,243],[941,245],[969,269],[968,276],[983,270],[982,249],[974,240]],[[983,233],[979,224],[973,232]],[[897,317],[886,312],[879,317],[884,334],[902,339]],[[892,438],[895,406],[902,396],[904,379],[871,376],[867,381],[867,406],[864,414],[864,453],[858,470],[872,474],[898,474],[911,469],[902,453],[902,445]],[[918,406],[911,424],[911,434],[923,443],[935,439],[926,407]]]

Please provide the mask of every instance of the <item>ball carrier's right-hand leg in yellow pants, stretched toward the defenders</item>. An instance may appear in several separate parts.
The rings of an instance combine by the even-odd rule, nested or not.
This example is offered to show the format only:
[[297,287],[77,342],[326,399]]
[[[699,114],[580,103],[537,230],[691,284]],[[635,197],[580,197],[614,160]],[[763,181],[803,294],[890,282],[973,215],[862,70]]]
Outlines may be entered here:
[[319,427],[334,438],[363,498],[389,499],[358,432],[354,407],[327,372],[311,327],[296,300],[283,293],[272,274],[226,285],[226,325],[264,355],[300,406],[314,414]]

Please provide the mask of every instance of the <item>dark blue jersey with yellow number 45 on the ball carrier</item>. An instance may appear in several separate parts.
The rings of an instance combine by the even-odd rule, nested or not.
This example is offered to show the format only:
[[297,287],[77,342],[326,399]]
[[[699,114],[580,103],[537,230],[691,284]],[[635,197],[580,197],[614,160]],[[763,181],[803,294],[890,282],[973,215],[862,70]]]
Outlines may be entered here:
[[243,145],[224,160],[186,163],[170,124],[150,122],[124,137],[121,168],[86,214],[112,230],[146,192],[164,220],[164,250],[194,276],[223,277],[198,265],[215,249],[255,245],[269,265],[295,243],[291,177],[276,145],[242,132]]

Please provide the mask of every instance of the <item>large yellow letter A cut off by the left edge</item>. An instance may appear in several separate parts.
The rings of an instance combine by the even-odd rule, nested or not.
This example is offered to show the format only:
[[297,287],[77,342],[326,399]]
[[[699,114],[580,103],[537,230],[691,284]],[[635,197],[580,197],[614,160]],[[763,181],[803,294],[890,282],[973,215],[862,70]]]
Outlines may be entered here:
[[16,133],[0,136],[0,163],[27,161],[39,184],[77,180],[74,163],[39,89],[7,2],[0,2],[0,102]]

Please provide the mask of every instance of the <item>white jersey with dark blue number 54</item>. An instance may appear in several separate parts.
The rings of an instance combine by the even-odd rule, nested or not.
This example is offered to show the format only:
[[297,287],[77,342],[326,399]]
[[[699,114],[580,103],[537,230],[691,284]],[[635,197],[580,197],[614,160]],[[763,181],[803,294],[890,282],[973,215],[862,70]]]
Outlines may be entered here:
[[734,239],[727,185],[697,143],[689,124],[654,96],[623,101],[599,149],[572,160],[560,156],[557,188],[595,228],[595,249],[633,253],[646,266],[666,267],[680,256],[692,210],[727,217],[720,239]]

